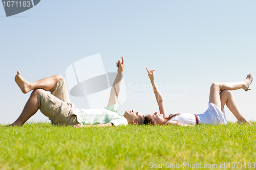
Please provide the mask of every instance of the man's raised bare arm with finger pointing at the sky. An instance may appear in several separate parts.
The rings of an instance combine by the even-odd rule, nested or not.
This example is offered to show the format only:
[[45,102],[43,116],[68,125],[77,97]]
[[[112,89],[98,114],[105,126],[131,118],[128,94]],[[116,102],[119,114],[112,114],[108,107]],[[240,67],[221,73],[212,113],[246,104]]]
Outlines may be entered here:
[[123,75],[123,67],[124,67],[123,57],[122,57],[122,62],[120,60],[118,60],[118,62],[116,62],[116,66],[118,67],[117,76],[116,76],[116,79],[111,88],[110,100],[109,100],[108,106],[111,106],[111,105],[117,103],[117,98],[118,98],[118,95],[120,92],[121,80],[122,80],[122,75]]

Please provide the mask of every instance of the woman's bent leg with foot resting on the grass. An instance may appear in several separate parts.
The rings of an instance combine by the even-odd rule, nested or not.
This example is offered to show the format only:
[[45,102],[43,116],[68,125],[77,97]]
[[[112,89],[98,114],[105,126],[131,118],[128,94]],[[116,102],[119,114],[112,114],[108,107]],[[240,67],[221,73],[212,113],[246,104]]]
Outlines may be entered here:
[[[227,105],[228,109],[233,113],[233,115],[238,119],[238,121],[242,123],[250,124],[241,111],[238,108],[238,105],[236,101],[234,100],[233,94],[230,90],[222,90],[220,92],[220,99],[221,99],[221,111],[223,111],[223,108],[225,104]],[[251,124],[250,124],[251,125]]]

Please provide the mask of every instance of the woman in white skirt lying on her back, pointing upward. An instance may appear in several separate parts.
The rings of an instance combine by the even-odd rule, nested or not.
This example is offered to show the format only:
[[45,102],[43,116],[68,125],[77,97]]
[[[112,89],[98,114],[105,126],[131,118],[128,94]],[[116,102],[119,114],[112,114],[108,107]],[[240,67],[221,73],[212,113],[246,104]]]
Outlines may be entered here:
[[[147,68],[146,68],[147,69]],[[209,107],[203,114],[189,114],[189,113],[176,113],[170,114],[166,117],[163,97],[158,90],[154,81],[154,71],[148,70],[148,77],[150,77],[156,100],[159,106],[160,113],[151,113],[145,116],[145,125],[179,125],[190,126],[199,124],[227,124],[225,113],[223,112],[224,105],[226,104],[229,110],[238,119],[239,124],[251,125],[240,112],[236,102],[234,101],[231,90],[244,89],[250,90],[249,85],[252,82],[252,76],[247,75],[246,79],[238,83],[212,83],[210,87]]]

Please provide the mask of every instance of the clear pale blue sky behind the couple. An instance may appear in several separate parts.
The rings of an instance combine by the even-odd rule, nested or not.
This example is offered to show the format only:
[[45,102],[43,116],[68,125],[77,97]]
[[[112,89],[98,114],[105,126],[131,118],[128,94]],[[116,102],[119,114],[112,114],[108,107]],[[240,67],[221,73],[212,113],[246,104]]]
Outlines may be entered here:
[[[135,93],[151,94],[145,67],[155,69],[161,85],[193,85],[193,90],[161,90],[186,96],[165,99],[168,114],[177,111],[203,113],[208,107],[213,82],[238,82],[256,76],[256,1],[48,1],[13,17],[0,7],[2,67],[0,124],[21,113],[29,99],[14,76],[20,70],[28,81],[52,75],[65,76],[77,60],[100,53],[105,71],[116,71],[125,59],[124,78],[128,96],[118,112],[158,111],[153,100],[135,99]],[[256,86],[233,91],[247,119],[256,120]],[[132,90],[133,89],[133,90]],[[173,95],[173,96],[174,96]],[[80,99],[71,97],[77,108]],[[103,106],[102,106],[103,108]],[[226,108],[228,120],[236,120]],[[45,121],[40,111],[30,121]]]

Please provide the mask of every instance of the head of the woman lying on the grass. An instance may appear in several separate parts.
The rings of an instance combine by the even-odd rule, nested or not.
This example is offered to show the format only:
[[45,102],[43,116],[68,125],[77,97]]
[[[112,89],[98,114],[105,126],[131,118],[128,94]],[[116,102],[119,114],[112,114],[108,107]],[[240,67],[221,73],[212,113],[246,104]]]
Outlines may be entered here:
[[145,125],[161,125],[166,122],[167,119],[163,117],[163,114],[157,112],[146,115],[144,120]]

